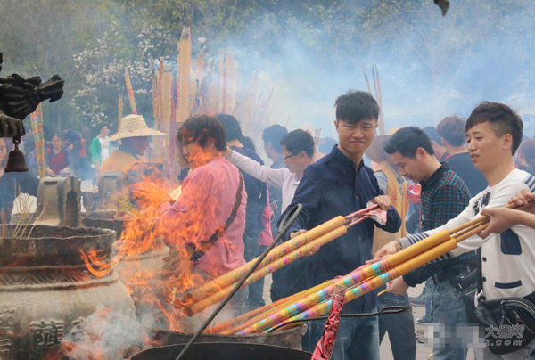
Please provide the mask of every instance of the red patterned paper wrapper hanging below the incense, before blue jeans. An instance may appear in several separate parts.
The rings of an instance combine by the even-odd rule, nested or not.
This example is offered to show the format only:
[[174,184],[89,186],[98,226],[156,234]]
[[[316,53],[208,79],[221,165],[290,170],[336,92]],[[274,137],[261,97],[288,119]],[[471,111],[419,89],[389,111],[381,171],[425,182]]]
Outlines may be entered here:
[[333,355],[334,340],[336,340],[340,315],[342,314],[342,307],[345,301],[345,290],[346,288],[342,285],[336,285],[334,288],[333,305],[329,312],[329,318],[325,323],[324,333],[317,342],[311,360],[329,360]]

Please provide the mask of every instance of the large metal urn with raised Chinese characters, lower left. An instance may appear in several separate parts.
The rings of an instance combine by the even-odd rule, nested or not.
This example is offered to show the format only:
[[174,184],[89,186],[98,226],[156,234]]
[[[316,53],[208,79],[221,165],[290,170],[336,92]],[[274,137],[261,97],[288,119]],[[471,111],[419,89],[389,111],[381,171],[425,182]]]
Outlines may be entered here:
[[99,308],[134,316],[119,276],[92,274],[81,257],[95,250],[110,261],[111,230],[37,225],[13,238],[14,229],[0,238],[0,359],[44,358]]

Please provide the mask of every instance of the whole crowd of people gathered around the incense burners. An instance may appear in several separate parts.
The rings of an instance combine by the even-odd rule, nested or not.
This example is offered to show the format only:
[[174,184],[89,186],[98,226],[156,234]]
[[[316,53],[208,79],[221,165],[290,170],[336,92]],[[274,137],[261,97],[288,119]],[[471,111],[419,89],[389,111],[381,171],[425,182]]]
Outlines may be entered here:
[[[466,120],[449,115],[437,127],[396,127],[385,135],[375,135],[380,109],[371,94],[342,94],[334,106],[338,141],[330,149],[317,149],[309,131],[267,127],[262,140],[270,166],[232,115],[193,116],[182,124],[173,135],[185,168],[181,193],[160,208],[170,248],[166,276],[177,275],[184,254],[174,250],[184,245],[191,265],[206,279],[242,266],[271,244],[281,218],[296,204],[302,210],[283,241],[370,203],[386,212],[386,223],[366,219],[276,271],[272,301],[486,215],[490,225],[483,233],[388,282],[382,296],[374,290],[343,307],[347,314],[365,314],[389,305],[425,305],[425,316],[416,323],[440,324],[435,335],[441,341],[435,343],[433,359],[465,359],[469,345],[459,340],[459,329],[472,321],[475,305],[507,297],[527,297],[535,303],[535,272],[527,266],[535,257],[535,206],[524,212],[500,209],[509,201],[526,204],[535,198],[535,140],[523,140],[522,119],[498,102],[481,102]],[[46,175],[80,177],[92,168],[95,174],[116,171],[129,183],[140,181],[149,171],[144,153],[152,137],[162,133],[147,127],[140,115],[122,119],[115,135],[109,131],[99,127],[87,152],[83,135],[71,130],[53,135]],[[117,148],[114,142],[119,140]],[[0,139],[2,171],[6,150]],[[25,184],[25,192],[32,194],[36,181],[36,176],[8,178],[0,173],[0,182]],[[12,200],[0,204],[8,209]],[[481,289],[466,300],[462,279],[476,271]],[[408,287],[424,282],[422,295],[409,299]],[[252,283],[238,293],[235,305],[264,306],[263,289],[263,282]],[[305,349],[315,348],[323,327],[321,322],[310,323],[303,337]],[[395,359],[416,358],[415,319],[409,310],[342,318],[333,359],[379,359],[386,332]],[[515,350],[496,357],[487,348],[474,349],[477,359],[535,358],[533,343]]]

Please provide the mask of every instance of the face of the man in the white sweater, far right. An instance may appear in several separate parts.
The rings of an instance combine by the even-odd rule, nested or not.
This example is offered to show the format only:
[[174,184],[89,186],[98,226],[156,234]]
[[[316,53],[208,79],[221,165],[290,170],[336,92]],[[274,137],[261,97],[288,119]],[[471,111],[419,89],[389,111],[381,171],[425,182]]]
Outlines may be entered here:
[[466,132],[466,146],[475,168],[484,172],[496,167],[504,150],[511,151],[510,138],[508,134],[497,137],[489,121],[471,127]]

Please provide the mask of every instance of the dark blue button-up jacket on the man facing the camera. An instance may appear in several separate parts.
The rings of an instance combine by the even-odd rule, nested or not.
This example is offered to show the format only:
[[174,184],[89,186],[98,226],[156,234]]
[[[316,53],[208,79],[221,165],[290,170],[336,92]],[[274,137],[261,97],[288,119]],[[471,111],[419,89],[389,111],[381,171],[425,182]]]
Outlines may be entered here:
[[[349,215],[366,208],[366,203],[383,195],[374,171],[361,161],[358,168],[335,145],[333,151],[306,168],[295,192],[292,204],[300,203],[303,209],[290,228],[289,233],[300,229],[310,230],[339,215]],[[300,269],[306,271],[306,288],[349,274],[372,258],[374,225],[372,219],[350,227],[348,233],[321,247],[316,254],[300,260]],[[378,225],[394,233],[401,226],[401,219],[394,208],[387,213],[386,225]],[[288,239],[288,236],[286,236]],[[294,274],[295,275],[295,274]],[[355,299],[346,306],[345,312],[361,312],[376,306],[376,292]]]

